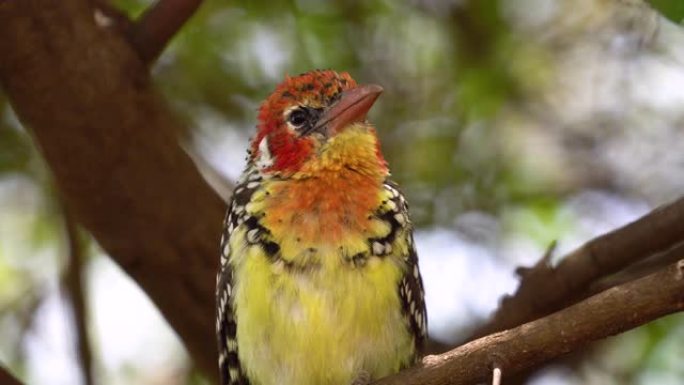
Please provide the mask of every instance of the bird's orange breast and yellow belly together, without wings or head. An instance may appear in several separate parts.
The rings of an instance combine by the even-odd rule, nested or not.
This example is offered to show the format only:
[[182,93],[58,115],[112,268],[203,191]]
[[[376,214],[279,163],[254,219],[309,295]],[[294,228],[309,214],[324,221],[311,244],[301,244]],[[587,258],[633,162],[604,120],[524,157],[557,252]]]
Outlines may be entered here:
[[[398,293],[403,259],[369,250],[369,239],[390,231],[374,215],[383,200],[378,186],[348,176],[260,194],[246,209],[278,252],[240,242],[249,238],[244,226],[231,237],[239,358],[252,382],[349,384],[409,362],[413,342]],[[365,256],[362,264],[356,255]]]

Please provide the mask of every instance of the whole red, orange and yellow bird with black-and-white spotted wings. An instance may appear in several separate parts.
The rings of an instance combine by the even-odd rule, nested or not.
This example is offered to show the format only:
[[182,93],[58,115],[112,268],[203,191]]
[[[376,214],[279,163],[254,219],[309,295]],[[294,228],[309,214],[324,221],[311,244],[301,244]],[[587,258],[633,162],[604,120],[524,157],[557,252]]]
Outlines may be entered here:
[[420,360],[423,281],[408,204],[347,72],[286,76],[261,104],[223,221],[223,385],[364,385]]

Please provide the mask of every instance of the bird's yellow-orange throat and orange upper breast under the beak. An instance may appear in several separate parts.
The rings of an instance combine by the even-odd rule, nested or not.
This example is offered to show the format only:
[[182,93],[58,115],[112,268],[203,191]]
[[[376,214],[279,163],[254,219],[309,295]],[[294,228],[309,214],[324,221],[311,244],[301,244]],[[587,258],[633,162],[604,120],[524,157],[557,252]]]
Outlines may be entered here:
[[[316,149],[299,171],[269,189],[264,224],[303,245],[340,244],[364,234],[389,175],[372,127],[356,123]],[[325,237],[325,239],[323,239]]]

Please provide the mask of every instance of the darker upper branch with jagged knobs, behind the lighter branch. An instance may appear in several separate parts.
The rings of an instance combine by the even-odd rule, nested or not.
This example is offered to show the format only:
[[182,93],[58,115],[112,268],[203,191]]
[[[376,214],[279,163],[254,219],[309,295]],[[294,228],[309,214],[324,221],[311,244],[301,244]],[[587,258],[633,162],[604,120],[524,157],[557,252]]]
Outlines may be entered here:
[[561,309],[597,280],[684,241],[684,198],[639,220],[594,238],[561,259],[542,258],[521,271],[515,294],[504,298],[493,318],[473,338],[521,325]]

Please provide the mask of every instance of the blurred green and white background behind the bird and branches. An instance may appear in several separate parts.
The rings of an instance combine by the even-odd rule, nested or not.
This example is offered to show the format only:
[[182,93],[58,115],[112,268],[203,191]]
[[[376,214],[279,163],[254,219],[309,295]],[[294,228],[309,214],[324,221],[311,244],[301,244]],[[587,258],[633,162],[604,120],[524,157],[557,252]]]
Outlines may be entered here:
[[[149,5],[114,3],[131,17]],[[370,119],[411,202],[430,333],[455,343],[553,240],[562,256],[684,191],[684,2],[652,5],[206,0],[153,74],[225,197],[259,102],[285,74],[381,84]],[[207,383],[136,284],[87,234],[70,239],[61,207],[0,94],[0,362],[27,384],[84,383],[67,300],[82,269],[98,384]],[[683,358],[684,317],[671,316],[527,382],[681,384]]]

